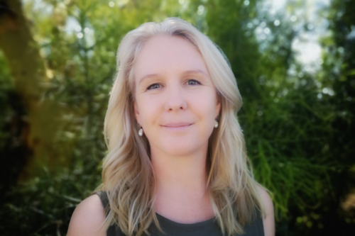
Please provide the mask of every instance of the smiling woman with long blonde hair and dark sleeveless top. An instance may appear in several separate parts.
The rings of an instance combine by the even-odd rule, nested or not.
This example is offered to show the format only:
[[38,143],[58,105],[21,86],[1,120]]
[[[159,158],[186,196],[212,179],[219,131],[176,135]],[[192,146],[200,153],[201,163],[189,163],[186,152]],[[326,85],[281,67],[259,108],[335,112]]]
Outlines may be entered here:
[[236,119],[241,95],[217,46],[167,18],[129,32],[117,60],[103,184],[67,235],[274,235],[273,203]]

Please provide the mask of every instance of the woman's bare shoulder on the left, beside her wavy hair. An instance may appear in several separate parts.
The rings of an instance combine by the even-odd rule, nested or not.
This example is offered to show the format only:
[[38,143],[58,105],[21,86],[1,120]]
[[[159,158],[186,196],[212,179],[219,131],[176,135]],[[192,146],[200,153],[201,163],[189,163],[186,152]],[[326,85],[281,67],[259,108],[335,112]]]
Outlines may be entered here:
[[104,207],[99,196],[97,194],[89,196],[72,213],[67,236],[105,236],[106,232],[102,230],[104,220]]

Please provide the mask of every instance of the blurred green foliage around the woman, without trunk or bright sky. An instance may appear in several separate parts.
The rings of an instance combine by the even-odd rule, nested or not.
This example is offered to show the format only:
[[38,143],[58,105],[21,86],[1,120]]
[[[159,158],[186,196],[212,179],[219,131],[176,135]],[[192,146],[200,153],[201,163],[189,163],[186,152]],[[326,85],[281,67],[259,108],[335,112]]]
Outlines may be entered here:
[[[38,163],[37,176],[6,185],[0,208],[4,235],[65,235],[72,210],[101,181],[102,130],[119,42],[142,23],[168,16],[190,21],[229,58],[244,98],[239,121],[248,154],[256,179],[271,191],[278,234],[322,232],[317,230],[327,227],[325,215],[333,214],[337,226],[345,218],[354,220],[337,215],[340,198],[351,188],[350,180],[346,188],[342,181],[354,167],[354,41],[346,35],[355,21],[341,1],[329,12],[333,34],[322,39],[324,64],[317,74],[308,74],[295,60],[293,23],[284,14],[258,9],[261,0],[25,2],[50,79],[45,99],[58,106],[60,131],[53,156]],[[296,5],[288,5],[290,11]],[[270,33],[260,40],[257,28]],[[0,67],[0,126],[6,127],[13,114],[26,116],[26,111],[10,103],[13,84],[1,52]],[[5,158],[14,149],[4,144],[15,136],[0,132]]]

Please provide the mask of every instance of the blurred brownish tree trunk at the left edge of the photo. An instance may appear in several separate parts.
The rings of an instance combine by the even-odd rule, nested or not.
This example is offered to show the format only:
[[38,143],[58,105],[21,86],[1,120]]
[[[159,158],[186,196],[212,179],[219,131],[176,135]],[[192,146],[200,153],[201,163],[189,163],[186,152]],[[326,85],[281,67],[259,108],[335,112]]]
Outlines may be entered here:
[[50,125],[50,120],[54,112],[50,102],[43,101],[45,83],[48,82],[45,62],[33,40],[21,0],[0,0],[0,48],[9,62],[16,94],[27,110],[27,117],[23,119],[29,130],[23,132],[22,138],[32,156],[23,172],[28,176],[33,172],[33,163],[48,164],[45,160],[48,160],[52,147],[54,125]]

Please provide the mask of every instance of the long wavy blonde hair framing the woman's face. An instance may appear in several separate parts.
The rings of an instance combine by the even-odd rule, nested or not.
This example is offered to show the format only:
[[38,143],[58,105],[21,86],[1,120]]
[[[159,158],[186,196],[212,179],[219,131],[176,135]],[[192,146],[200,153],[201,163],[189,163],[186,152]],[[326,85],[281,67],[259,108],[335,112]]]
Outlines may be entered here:
[[133,65],[144,43],[156,35],[185,38],[200,51],[222,101],[219,127],[209,137],[207,189],[215,217],[227,235],[243,233],[246,223],[263,212],[257,183],[246,156],[244,135],[236,118],[241,95],[223,52],[197,28],[180,18],[144,23],[121,41],[116,79],[104,121],[108,154],[104,159],[102,185],[109,198],[104,230],[116,224],[125,235],[148,233],[155,223],[155,178],[147,138],[138,136],[133,115]]

